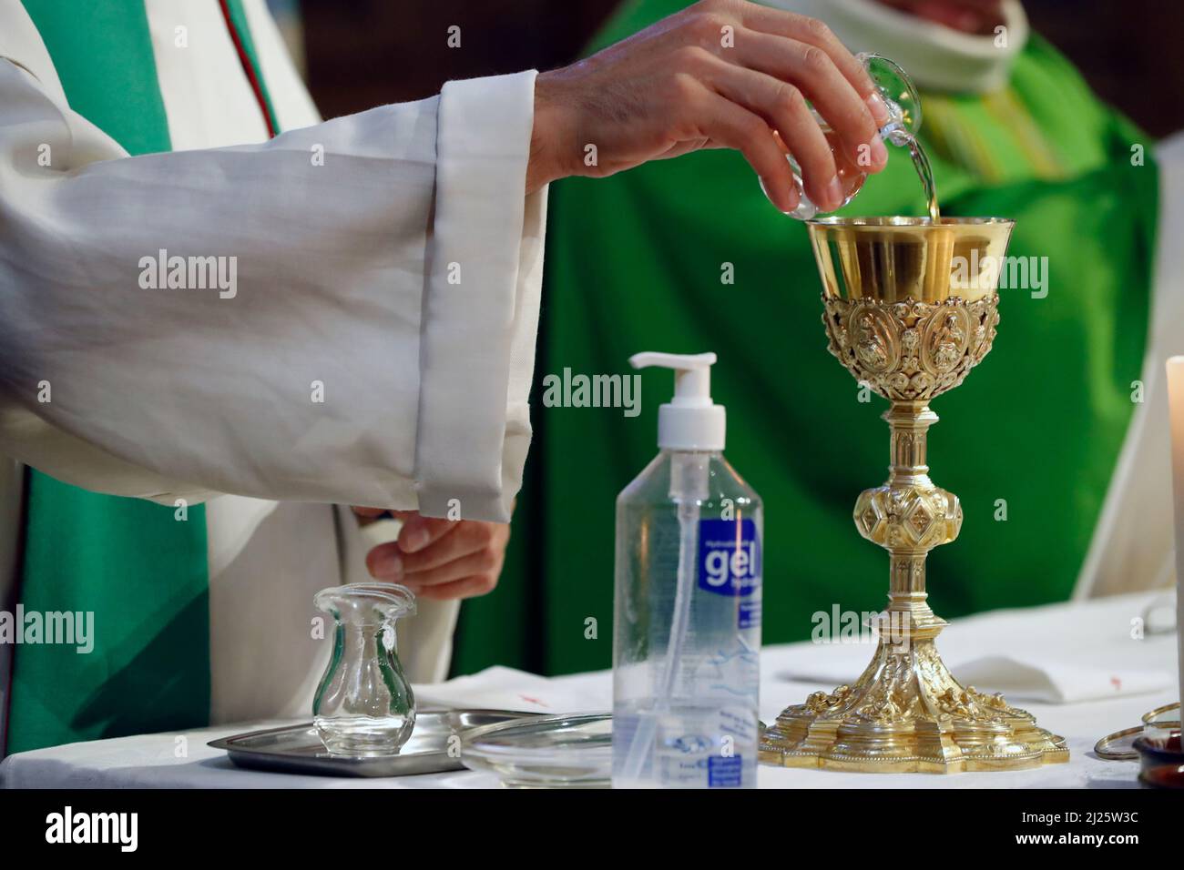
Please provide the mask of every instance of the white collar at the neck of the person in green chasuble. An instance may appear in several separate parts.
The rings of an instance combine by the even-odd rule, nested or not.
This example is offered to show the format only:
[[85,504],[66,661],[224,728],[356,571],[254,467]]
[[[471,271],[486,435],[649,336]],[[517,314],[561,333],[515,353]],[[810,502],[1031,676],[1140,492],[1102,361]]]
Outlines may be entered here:
[[918,86],[929,90],[980,94],[1002,88],[1029,33],[1019,0],[1003,0],[1003,47],[996,46],[993,34],[961,33],[876,0],[760,1],[822,19],[851,51],[874,51],[892,58]]

